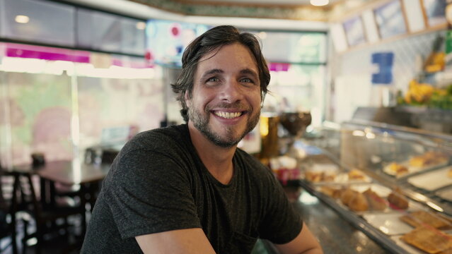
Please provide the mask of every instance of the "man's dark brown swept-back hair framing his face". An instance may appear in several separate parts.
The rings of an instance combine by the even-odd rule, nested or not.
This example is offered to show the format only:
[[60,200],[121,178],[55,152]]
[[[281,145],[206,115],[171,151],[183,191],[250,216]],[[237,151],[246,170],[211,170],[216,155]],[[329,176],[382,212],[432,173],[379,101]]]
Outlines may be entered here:
[[187,49],[185,49],[185,52],[182,55],[182,71],[178,80],[176,80],[174,84],[171,84],[173,92],[175,92],[177,99],[180,102],[180,106],[182,107],[182,109],[180,109],[180,114],[182,114],[185,122],[188,122],[188,108],[185,103],[185,92],[188,92],[188,97],[192,97],[194,76],[199,59],[205,54],[209,54],[214,49],[236,42],[248,47],[256,60],[257,68],[259,69],[261,99],[264,99],[264,96],[267,93],[267,85],[270,83],[270,72],[268,71],[267,62],[265,61],[264,56],[262,56],[259,41],[255,35],[250,34],[249,32],[241,33],[232,25],[220,25],[204,32],[204,34],[197,37],[187,46]]

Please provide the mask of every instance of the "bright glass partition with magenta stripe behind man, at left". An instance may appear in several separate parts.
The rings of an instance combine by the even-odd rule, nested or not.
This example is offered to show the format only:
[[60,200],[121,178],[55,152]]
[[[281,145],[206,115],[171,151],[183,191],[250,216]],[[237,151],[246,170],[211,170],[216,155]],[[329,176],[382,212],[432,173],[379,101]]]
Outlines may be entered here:
[[144,59],[20,44],[0,49],[4,167],[28,164],[34,152],[48,161],[82,157],[86,147],[111,143],[102,138],[109,130],[127,128],[115,140],[121,145],[164,118],[161,68]]

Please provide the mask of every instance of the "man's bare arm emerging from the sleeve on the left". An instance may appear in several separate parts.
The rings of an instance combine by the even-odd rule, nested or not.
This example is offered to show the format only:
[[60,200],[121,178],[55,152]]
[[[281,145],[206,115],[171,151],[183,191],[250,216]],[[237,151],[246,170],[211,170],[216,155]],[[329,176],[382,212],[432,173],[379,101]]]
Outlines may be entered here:
[[144,254],[214,254],[202,229],[178,229],[135,237]]

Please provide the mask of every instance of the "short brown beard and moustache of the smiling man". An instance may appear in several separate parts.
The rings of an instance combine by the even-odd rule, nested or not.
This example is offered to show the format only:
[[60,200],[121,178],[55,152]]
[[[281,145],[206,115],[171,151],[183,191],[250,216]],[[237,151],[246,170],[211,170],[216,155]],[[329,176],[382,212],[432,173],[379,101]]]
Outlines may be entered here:
[[[233,105],[228,104],[229,107],[232,107]],[[227,108],[227,107],[223,107]],[[240,108],[240,107],[235,107]],[[215,145],[218,145],[219,147],[229,148],[233,147],[234,145],[237,145],[240,140],[245,137],[246,134],[248,134],[250,131],[253,131],[253,128],[257,125],[257,122],[259,121],[260,116],[260,109],[257,109],[257,114],[255,116],[250,116],[248,118],[248,121],[246,123],[246,128],[243,133],[240,133],[240,135],[235,135],[235,126],[225,126],[226,128],[226,137],[224,139],[221,138],[221,135],[218,133],[215,133],[209,126],[209,119],[210,119],[210,110],[206,109],[204,112],[200,112],[194,107],[190,107],[188,109],[188,116],[190,120],[193,122],[193,125],[195,128],[198,129],[204,136],[210,140]],[[204,114],[203,114],[204,113]],[[238,137],[238,138],[236,138]]]

